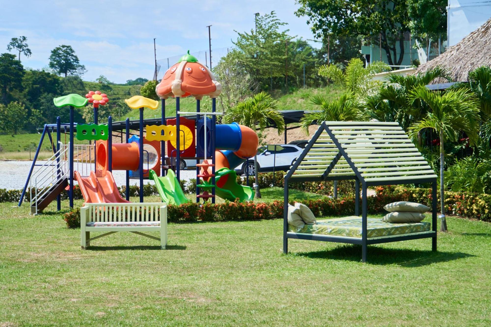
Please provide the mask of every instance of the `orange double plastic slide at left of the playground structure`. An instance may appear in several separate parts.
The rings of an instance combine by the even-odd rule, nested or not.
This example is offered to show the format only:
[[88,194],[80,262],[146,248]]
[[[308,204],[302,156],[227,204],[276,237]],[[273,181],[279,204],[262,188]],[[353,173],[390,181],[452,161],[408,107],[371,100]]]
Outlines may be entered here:
[[79,182],[85,203],[130,203],[121,197],[118,187],[110,171],[106,171],[106,176],[97,177],[91,171],[88,177],[80,176],[78,171],[74,171],[75,180]]

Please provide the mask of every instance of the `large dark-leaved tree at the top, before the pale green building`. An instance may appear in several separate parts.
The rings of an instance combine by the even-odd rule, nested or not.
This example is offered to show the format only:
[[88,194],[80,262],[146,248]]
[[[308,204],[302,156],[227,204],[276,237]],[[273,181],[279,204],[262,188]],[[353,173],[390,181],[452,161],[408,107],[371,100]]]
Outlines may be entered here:
[[307,16],[316,37],[364,36],[382,44],[389,65],[404,58],[404,33],[409,31],[406,1],[298,0],[297,16]]

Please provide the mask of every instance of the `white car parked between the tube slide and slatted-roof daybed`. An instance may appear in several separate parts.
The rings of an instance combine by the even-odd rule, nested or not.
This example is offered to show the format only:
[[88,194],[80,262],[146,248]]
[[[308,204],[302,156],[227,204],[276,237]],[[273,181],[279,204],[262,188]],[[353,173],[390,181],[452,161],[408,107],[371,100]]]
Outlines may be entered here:
[[[276,150],[275,149],[276,146]],[[257,150],[257,169],[259,172],[288,170],[300,157],[303,149],[293,144],[270,144]],[[255,174],[254,158],[235,168],[241,174],[248,171],[249,176]]]

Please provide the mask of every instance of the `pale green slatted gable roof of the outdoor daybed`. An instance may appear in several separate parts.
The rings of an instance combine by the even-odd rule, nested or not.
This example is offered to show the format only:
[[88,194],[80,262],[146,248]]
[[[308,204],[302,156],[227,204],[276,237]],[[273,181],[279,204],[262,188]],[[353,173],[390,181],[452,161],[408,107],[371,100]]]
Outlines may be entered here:
[[432,182],[436,175],[396,122],[326,121],[287,178],[292,182],[358,179],[384,185]]

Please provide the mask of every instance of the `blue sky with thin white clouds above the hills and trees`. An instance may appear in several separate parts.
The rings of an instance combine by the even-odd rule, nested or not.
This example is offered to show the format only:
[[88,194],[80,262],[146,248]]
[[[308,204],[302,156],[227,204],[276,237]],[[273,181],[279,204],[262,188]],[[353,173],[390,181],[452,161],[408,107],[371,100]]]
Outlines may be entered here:
[[[138,77],[152,79],[154,45],[163,69],[178,56],[208,51],[211,27],[212,64],[237,38],[234,30],[250,31],[254,13],[276,12],[288,23],[290,35],[313,39],[306,18],[298,18],[295,0],[0,0],[0,53],[12,37],[27,37],[32,55],[21,55],[25,67],[48,68],[51,50],[65,44],[75,50],[87,72],[85,81],[100,75],[125,83]],[[3,49],[2,49],[3,47]],[[214,52],[214,49],[216,51]],[[15,53],[15,52],[14,52]],[[177,58],[176,58],[177,56]]]

